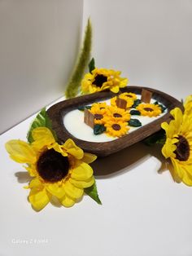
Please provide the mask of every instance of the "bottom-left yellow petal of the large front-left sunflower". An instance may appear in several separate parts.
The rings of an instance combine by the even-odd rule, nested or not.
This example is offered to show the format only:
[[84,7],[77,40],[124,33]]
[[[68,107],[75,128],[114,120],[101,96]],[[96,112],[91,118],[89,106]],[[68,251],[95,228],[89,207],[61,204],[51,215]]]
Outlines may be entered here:
[[46,193],[46,189],[38,191],[32,189],[28,196],[28,201],[33,205],[34,210],[42,210],[49,202],[50,198]]

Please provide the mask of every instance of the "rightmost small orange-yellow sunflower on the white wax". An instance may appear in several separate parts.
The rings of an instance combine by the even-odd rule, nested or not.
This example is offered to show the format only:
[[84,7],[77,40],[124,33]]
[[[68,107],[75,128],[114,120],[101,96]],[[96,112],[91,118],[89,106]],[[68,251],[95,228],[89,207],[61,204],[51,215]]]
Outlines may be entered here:
[[158,104],[139,104],[137,106],[137,111],[141,113],[142,116],[145,117],[157,117],[162,113],[161,108]]

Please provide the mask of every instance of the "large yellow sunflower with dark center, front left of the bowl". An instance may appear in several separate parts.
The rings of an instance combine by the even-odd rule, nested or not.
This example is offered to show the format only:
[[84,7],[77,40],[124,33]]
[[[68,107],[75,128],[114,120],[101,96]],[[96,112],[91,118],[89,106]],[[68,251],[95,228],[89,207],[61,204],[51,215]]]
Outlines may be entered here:
[[84,188],[94,184],[89,163],[96,156],[83,152],[72,139],[59,145],[46,127],[33,129],[32,136],[34,141],[31,144],[19,139],[6,143],[10,157],[16,162],[26,163],[25,169],[33,177],[28,184],[28,201],[37,211],[53,197],[66,207],[74,205],[83,196]]

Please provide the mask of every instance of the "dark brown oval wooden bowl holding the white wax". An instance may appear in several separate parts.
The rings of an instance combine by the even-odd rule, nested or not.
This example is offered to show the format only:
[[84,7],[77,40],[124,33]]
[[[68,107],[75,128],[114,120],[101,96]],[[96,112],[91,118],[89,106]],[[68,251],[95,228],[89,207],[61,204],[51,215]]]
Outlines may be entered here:
[[[63,100],[47,110],[47,114],[52,121],[53,129],[58,136],[59,143],[63,143],[64,141],[66,141],[66,139],[71,138],[85,152],[94,153],[98,157],[105,157],[114,152],[118,152],[121,149],[127,148],[130,145],[141,141],[142,139],[146,139],[148,136],[159,131],[161,129],[161,123],[163,121],[169,122],[172,119],[172,116],[169,113],[172,108],[178,107],[183,110],[183,105],[181,104],[181,102],[159,90],[140,86],[128,86],[124,89],[121,89],[120,93],[133,92],[137,95],[141,95],[142,89],[151,91],[153,94],[152,98],[159,101],[161,104],[164,104],[164,106],[168,108],[168,113],[164,114],[163,117],[159,117],[156,121],[151,121],[151,123],[147,124],[146,126],[142,126],[141,128],[134,130],[130,134],[120,137],[119,139],[115,139],[110,142],[95,143],[76,139],[76,137],[71,135],[63,125],[63,117],[64,115],[66,115],[66,113],[72,111],[73,109],[76,109],[83,105],[93,104],[94,102],[98,102],[100,100],[110,99],[111,97],[114,97],[116,95],[113,94],[111,91],[102,91],[90,95],[76,97],[73,99]],[[76,129],[78,129],[78,127]]]

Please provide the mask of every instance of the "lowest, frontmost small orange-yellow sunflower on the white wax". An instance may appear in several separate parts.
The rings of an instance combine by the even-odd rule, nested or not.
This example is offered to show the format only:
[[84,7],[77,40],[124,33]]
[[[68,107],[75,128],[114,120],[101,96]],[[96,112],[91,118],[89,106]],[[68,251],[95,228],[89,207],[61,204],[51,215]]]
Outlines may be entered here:
[[129,130],[127,126],[127,122],[123,121],[107,121],[106,126],[106,134],[112,137],[121,137],[126,135]]

